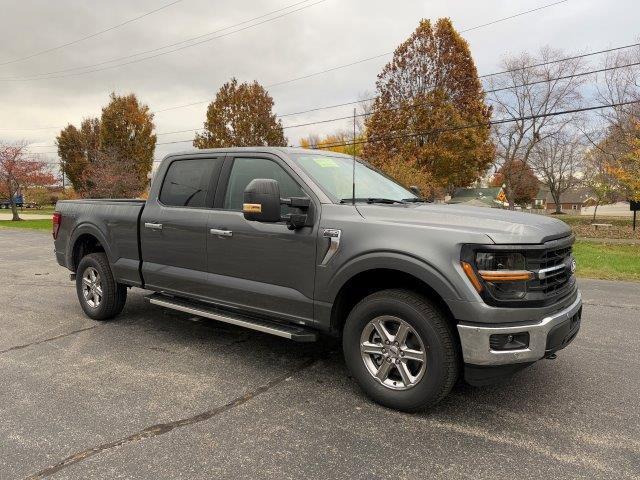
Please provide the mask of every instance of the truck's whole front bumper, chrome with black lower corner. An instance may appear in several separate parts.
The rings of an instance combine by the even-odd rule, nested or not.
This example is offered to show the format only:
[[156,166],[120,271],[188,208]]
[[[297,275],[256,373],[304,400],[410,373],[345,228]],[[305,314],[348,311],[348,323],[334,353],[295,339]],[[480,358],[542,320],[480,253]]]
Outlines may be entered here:
[[[507,365],[535,362],[545,355],[567,346],[580,328],[582,297],[577,292],[575,301],[564,309],[539,322],[509,326],[478,326],[458,324],[464,362],[473,365]],[[493,350],[491,335],[529,334],[526,348]]]

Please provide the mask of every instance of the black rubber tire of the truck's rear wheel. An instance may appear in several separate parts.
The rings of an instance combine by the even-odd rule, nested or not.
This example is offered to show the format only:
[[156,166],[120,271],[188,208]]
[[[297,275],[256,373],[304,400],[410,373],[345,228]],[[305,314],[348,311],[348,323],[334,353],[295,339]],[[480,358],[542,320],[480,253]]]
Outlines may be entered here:
[[[93,269],[93,270],[92,270]],[[95,271],[99,276],[102,295],[95,302],[85,298],[84,276]],[[111,320],[122,312],[127,301],[127,287],[117,283],[104,253],[91,253],[82,257],[76,270],[76,293],[84,313],[94,320]],[[95,305],[92,303],[95,302]]]

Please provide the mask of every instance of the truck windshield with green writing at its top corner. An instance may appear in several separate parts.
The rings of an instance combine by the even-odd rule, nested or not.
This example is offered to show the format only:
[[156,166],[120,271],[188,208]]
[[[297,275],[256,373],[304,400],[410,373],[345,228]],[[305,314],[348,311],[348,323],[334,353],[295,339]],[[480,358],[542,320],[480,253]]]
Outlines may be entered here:
[[[334,201],[353,197],[353,159],[313,153],[294,153],[291,157]],[[356,199],[417,199],[409,190],[361,160],[356,161],[355,180]]]

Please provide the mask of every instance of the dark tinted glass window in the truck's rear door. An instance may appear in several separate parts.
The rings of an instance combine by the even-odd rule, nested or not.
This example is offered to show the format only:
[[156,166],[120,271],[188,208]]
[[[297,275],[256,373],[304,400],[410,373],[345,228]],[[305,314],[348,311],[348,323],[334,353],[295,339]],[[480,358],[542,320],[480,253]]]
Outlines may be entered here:
[[209,185],[214,170],[219,172],[222,159],[198,158],[176,160],[170,166],[162,183],[160,202],[173,207],[206,206]]

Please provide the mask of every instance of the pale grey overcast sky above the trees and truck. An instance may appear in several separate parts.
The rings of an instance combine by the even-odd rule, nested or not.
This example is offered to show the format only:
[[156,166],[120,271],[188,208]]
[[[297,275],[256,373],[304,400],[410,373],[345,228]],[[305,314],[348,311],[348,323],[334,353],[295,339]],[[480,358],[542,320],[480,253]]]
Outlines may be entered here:
[[[465,29],[557,0],[181,0],[153,14],[77,44],[13,63],[107,29],[163,7],[172,0],[0,0],[0,139],[33,142],[33,152],[57,159],[51,145],[60,127],[99,116],[110,92],[135,92],[151,110],[210,100],[232,76],[271,85],[392,51],[421,18],[450,17]],[[148,60],[110,68],[103,63],[88,74],[80,67],[217,31],[268,12],[218,39]],[[312,6],[309,6],[312,5]],[[297,12],[265,21],[295,9]],[[308,7],[308,8],[306,8]],[[569,0],[534,13],[463,34],[479,73],[497,71],[507,54],[535,52],[552,45],[581,53],[632,43],[638,38],[637,0]],[[256,26],[252,24],[264,21]],[[248,27],[237,33],[239,28]],[[202,37],[201,40],[211,38]],[[187,44],[181,44],[184,46]],[[175,47],[174,47],[175,48]],[[153,54],[166,50],[157,50]],[[139,57],[122,60],[131,62]],[[373,91],[377,73],[390,57],[269,88],[275,111],[286,114],[316,106],[357,100]],[[592,60],[597,65],[598,59]],[[109,68],[107,68],[109,67]],[[74,70],[76,69],[76,70]],[[32,80],[39,74],[60,72]],[[74,75],[69,75],[74,74]],[[11,80],[8,80],[11,79]],[[285,125],[348,115],[352,107],[286,117]],[[206,103],[159,112],[158,133],[199,128]],[[56,127],[53,129],[44,129]],[[290,144],[309,133],[346,128],[346,122],[285,130]],[[42,129],[42,130],[37,130]],[[160,135],[158,142],[192,138],[192,133]],[[37,147],[36,145],[49,145]],[[156,158],[190,148],[190,143],[159,145]]]

